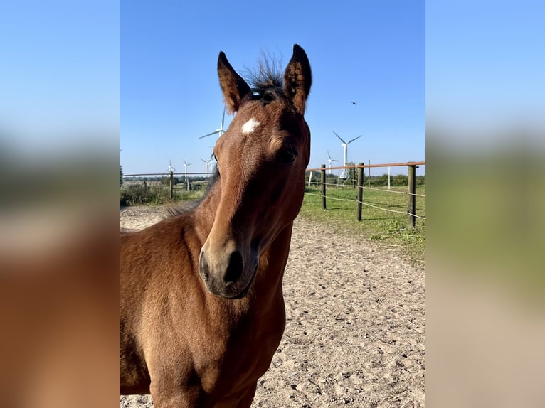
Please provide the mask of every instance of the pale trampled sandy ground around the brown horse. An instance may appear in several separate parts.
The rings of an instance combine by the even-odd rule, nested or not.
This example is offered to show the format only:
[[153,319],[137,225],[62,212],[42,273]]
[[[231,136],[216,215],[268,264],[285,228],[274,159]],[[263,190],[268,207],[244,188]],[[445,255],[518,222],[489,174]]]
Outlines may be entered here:
[[[124,208],[120,227],[161,217],[161,208]],[[284,337],[252,407],[425,406],[423,267],[297,218],[284,294]],[[122,396],[120,407],[153,403]]]

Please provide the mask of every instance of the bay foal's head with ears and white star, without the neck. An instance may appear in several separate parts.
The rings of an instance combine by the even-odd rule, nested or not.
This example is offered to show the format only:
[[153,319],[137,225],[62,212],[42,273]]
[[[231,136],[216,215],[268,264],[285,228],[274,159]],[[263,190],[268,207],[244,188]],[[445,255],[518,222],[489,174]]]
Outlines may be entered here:
[[310,65],[294,45],[282,78],[250,86],[224,53],[218,76],[226,108],[236,113],[214,148],[221,198],[199,272],[211,294],[238,299],[248,292],[260,254],[295,219],[305,193],[310,131],[305,105]]

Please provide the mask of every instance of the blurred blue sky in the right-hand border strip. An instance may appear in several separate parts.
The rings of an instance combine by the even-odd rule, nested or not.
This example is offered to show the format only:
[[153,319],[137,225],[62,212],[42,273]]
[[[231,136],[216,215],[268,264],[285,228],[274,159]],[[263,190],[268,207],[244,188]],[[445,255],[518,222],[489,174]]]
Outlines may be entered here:
[[543,128],[544,19],[543,1],[427,2],[426,117],[449,146],[490,149],[513,127]]

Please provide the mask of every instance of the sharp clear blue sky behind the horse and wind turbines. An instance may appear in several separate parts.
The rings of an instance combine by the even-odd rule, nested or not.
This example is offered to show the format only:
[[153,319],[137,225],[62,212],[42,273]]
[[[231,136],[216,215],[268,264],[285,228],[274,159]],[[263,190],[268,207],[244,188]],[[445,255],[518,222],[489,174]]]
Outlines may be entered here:
[[423,1],[122,1],[120,163],[126,174],[166,171],[169,160],[176,171],[184,160],[204,171],[216,137],[198,138],[223,113],[219,51],[244,76],[262,53],[283,68],[294,43],[313,74],[309,166],[327,163],[327,151],[342,163],[333,130],[346,141],[363,135],[349,161],[423,161],[424,36]]

